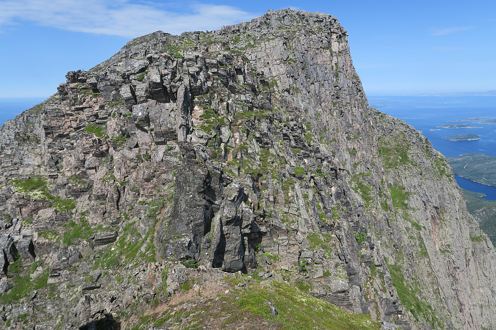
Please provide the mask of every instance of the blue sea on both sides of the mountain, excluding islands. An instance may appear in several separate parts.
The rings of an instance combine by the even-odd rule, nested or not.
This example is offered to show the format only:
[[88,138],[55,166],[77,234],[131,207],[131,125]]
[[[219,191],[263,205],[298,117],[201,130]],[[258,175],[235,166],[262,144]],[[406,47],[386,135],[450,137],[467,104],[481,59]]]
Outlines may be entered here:
[[[45,98],[0,99],[0,124],[12,119]],[[459,96],[398,96],[368,95],[370,107],[404,120],[422,131],[434,149],[446,157],[465,153],[482,153],[496,156],[496,124],[477,123],[468,118],[495,118],[496,95]],[[495,120],[496,122],[496,120]],[[441,128],[440,125],[468,124],[477,128]],[[446,136],[473,133],[480,136],[476,141],[449,141]],[[496,200],[496,188],[455,176],[460,187],[485,194],[485,198]]]

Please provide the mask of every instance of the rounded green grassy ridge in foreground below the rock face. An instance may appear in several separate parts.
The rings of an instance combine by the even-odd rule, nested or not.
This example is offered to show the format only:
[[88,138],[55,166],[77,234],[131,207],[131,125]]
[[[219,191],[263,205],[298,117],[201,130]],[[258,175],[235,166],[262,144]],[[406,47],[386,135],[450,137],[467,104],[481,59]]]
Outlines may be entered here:
[[[191,297],[191,286],[183,285],[186,299],[179,304],[157,306],[155,312],[142,315],[132,330],[149,329],[326,329],[379,330],[380,323],[370,315],[347,313],[341,308],[284,282],[259,282],[246,277],[224,278],[226,294],[200,302]],[[242,285],[242,287],[240,287]],[[270,304],[277,313],[271,312]],[[191,308],[194,306],[193,308]],[[156,313],[157,311],[163,311]]]

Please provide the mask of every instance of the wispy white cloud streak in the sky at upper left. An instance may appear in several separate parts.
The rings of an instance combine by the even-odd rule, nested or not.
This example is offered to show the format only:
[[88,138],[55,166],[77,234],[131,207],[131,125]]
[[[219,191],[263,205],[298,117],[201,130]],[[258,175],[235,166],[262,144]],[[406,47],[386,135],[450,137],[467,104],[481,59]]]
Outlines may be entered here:
[[74,32],[134,38],[157,30],[220,29],[259,16],[234,6],[194,1],[164,4],[130,0],[0,0],[0,29],[28,22]]

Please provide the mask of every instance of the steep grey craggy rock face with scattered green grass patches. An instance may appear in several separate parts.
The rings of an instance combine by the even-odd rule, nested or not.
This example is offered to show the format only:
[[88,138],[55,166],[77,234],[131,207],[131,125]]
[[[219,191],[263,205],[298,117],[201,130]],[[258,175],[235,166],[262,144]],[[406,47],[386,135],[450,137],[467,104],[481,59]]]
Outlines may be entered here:
[[11,329],[135,326],[181,263],[204,284],[296,283],[384,329],[496,328],[493,245],[444,157],[368,107],[333,16],[137,38],[0,134]]

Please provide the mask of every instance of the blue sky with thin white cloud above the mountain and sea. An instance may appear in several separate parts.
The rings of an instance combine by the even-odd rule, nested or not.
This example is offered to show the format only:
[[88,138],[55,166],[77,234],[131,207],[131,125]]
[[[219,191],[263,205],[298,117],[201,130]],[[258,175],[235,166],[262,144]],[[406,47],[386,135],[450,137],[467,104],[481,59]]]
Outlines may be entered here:
[[268,9],[336,16],[366,93],[496,90],[496,2],[0,0],[0,98],[48,97],[134,37],[213,30]]

